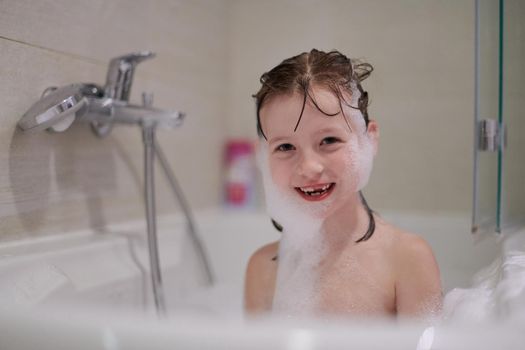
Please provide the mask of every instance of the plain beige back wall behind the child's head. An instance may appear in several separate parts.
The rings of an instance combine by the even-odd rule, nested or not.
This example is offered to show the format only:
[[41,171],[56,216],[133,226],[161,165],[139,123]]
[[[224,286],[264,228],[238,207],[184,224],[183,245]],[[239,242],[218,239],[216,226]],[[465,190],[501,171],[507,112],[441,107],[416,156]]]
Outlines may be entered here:
[[380,150],[373,208],[468,211],[474,79],[472,1],[235,1],[229,134],[255,137],[249,97],[284,58],[338,49],[371,62]]

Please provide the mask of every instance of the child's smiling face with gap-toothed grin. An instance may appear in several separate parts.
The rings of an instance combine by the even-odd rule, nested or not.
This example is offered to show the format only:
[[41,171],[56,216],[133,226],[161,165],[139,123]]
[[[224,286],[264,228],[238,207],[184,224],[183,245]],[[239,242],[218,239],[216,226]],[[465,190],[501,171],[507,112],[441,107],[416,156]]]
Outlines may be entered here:
[[312,89],[311,93],[323,111],[339,114],[327,116],[308,99],[294,132],[303,96],[275,96],[260,110],[261,127],[268,139],[270,174],[279,192],[314,208],[319,204],[316,216],[326,217],[355,201],[366,185],[378,130],[374,121],[367,128],[361,113],[343,104],[345,121],[331,92]]

